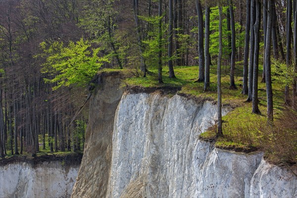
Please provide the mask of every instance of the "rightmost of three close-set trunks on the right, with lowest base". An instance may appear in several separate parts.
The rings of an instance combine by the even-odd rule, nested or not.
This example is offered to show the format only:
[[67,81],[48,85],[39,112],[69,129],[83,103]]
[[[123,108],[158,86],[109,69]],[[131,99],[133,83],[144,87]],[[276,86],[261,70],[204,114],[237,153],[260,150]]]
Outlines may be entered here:
[[255,36],[253,86],[252,86],[252,113],[261,114],[258,107],[258,70],[259,70],[259,43],[260,43],[261,7],[256,0],[256,22],[253,26]]

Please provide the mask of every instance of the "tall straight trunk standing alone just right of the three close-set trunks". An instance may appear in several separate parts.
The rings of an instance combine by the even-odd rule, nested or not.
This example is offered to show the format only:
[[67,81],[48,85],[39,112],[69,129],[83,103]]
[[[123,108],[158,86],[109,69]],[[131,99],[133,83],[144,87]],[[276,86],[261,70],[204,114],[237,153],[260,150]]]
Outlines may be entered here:
[[274,0],[268,0],[268,6],[267,6],[268,18],[267,18],[267,34],[266,34],[266,49],[265,49],[267,118],[269,122],[273,121],[273,99],[272,99],[271,60],[270,60],[273,3],[274,3]]

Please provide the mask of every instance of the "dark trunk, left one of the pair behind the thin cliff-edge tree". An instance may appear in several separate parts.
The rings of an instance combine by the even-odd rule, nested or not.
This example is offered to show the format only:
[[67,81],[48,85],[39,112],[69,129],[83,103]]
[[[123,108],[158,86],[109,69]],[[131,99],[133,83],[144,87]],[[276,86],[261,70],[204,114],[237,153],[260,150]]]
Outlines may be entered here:
[[198,54],[199,54],[199,77],[198,82],[204,81],[204,46],[203,46],[203,13],[200,0],[196,0],[198,16]]

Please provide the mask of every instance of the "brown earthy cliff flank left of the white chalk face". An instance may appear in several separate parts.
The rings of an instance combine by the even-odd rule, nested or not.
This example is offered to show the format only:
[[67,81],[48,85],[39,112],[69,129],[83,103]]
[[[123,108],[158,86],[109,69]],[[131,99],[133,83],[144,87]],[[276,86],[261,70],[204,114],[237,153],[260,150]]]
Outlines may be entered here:
[[122,75],[102,73],[90,99],[89,123],[81,168],[72,198],[102,198],[106,195],[112,155],[115,112],[122,97]]

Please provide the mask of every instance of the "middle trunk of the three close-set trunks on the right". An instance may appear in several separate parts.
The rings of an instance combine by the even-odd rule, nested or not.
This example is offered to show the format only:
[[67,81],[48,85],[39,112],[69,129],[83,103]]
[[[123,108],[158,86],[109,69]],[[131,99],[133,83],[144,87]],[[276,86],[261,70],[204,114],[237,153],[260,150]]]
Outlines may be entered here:
[[[251,27],[255,23],[255,0],[250,1],[250,24]],[[249,63],[248,63],[248,97],[247,101],[252,101],[252,81],[253,81],[253,56],[254,56],[254,31],[250,28],[250,39],[249,39]]]

